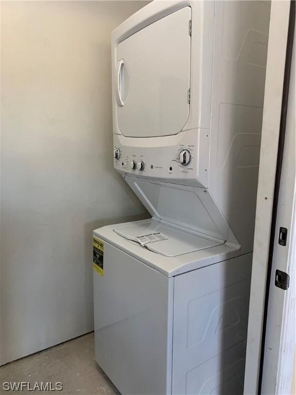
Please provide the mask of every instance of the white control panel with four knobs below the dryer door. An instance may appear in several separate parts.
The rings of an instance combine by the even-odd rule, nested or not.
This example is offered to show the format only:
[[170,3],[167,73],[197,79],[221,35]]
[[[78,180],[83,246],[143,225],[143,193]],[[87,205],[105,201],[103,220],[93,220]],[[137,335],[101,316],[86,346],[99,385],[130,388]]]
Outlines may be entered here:
[[156,147],[149,147],[153,139],[136,139],[142,147],[127,146],[125,143],[131,144],[131,139],[114,135],[115,169],[133,176],[207,188],[209,130],[195,129],[180,135],[174,136],[175,144]]

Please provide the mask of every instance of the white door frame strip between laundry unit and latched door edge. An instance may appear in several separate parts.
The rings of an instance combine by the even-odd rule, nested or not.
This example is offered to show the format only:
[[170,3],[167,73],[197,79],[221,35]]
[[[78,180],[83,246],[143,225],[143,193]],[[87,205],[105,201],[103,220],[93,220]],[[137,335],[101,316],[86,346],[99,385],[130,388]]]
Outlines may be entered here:
[[[270,15],[244,388],[245,394],[252,395],[266,393],[262,388],[262,378],[269,287],[274,286],[274,278],[271,275],[273,243],[277,243],[278,236],[276,211],[287,105],[287,89],[284,88],[284,81],[289,77],[286,58],[291,30],[289,20],[291,21],[290,15],[293,11],[290,4],[288,1],[272,2]],[[279,342],[281,342],[280,338]]]

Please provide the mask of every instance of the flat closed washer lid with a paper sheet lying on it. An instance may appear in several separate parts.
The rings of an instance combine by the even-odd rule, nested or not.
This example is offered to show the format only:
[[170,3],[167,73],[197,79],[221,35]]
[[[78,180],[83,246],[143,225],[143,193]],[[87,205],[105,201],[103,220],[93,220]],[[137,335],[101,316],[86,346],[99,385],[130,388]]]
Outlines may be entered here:
[[187,231],[161,224],[156,220],[115,228],[114,231],[125,239],[138,243],[140,243],[139,240],[141,240],[138,238],[141,236],[160,234],[165,239],[148,242],[145,244],[145,247],[166,257],[176,257],[178,255],[193,253],[200,249],[224,244],[224,240],[214,238],[207,239],[205,237],[193,235]]

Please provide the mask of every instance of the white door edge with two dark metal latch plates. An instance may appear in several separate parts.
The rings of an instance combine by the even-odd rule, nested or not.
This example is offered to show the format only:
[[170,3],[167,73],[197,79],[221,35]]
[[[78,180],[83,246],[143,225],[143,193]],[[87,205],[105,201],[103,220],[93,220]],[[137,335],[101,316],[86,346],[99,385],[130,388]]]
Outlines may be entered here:
[[291,393],[296,345],[295,45],[289,85],[283,164],[262,361],[262,395],[287,395]]

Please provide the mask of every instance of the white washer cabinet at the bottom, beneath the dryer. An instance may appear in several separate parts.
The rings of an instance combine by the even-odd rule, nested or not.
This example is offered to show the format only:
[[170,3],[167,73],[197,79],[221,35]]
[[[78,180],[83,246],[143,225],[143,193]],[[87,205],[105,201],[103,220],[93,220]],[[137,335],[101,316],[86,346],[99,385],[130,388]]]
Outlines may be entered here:
[[[151,243],[158,253],[120,236],[144,229],[169,238]],[[231,258],[231,245],[154,220],[94,236],[104,244],[103,276],[94,271],[96,361],[120,392],[242,393],[252,254]]]

